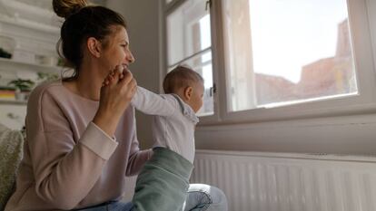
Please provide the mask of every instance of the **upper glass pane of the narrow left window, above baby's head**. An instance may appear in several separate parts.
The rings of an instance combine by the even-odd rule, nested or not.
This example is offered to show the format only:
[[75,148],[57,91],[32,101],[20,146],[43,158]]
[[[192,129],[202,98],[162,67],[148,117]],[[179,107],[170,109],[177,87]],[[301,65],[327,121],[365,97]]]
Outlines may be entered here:
[[186,1],[167,16],[169,66],[212,45],[210,14],[206,1]]

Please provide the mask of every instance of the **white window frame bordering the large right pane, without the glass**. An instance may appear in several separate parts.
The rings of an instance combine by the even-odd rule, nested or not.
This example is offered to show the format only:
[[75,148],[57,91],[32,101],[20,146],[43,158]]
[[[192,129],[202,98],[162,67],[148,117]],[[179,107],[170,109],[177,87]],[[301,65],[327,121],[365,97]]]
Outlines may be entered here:
[[[166,17],[186,0],[173,0],[165,6]],[[203,0],[204,1],[204,0]],[[276,120],[298,120],[319,117],[345,116],[376,112],[376,1],[348,0],[349,24],[352,51],[356,69],[358,94],[334,97],[328,100],[309,101],[275,108],[228,111],[226,63],[224,62],[222,0],[212,0],[212,55],[214,93],[214,115],[200,118],[201,125],[230,123],[252,123]],[[372,12],[373,11],[373,12]],[[165,28],[164,28],[164,32]],[[164,42],[165,42],[164,38]],[[164,45],[166,46],[166,44]],[[167,55],[167,53],[164,53]],[[164,56],[164,62],[166,62]],[[166,70],[167,65],[165,65]]]

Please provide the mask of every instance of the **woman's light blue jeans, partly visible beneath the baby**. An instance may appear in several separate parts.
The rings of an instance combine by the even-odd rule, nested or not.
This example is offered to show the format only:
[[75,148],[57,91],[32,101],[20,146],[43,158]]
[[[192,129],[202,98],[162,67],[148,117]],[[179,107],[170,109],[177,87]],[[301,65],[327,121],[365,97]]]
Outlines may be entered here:
[[[80,209],[81,211],[132,211],[131,202],[108,202],[104,205]],[[155,211],[175,211],[157,210]],[[154,211],[154,210],[153,210]],[[176,210],[179,211],[179,210]],[[187,198],[183,204],[183,211],[227,211],[227,199],[223,191],[217,187],[204,184],[191,184]]]

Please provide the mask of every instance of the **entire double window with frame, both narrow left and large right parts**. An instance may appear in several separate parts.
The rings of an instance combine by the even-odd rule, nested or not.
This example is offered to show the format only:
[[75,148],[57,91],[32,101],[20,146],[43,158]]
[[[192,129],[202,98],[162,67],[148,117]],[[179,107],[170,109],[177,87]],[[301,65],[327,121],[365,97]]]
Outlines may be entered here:
[[215,122],[376,108],[365,2],[175,0],[165,11],[167,68],[187,63],[203,75],[201,114]]

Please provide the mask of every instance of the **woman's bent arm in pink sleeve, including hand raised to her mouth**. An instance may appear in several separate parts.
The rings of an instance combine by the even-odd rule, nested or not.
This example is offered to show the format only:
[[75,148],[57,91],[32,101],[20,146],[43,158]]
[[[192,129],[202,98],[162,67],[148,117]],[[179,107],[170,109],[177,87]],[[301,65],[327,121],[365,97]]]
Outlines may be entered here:
[[43,87],[33,91],[26,117],[27,150],[38,197],[58,209],[72,209],[88,195],[117,147],[114,130],[134,91],[130,72],[102,87],[99,109],[81,137],[74,137],[74,122],[65,117],[54,94]]

